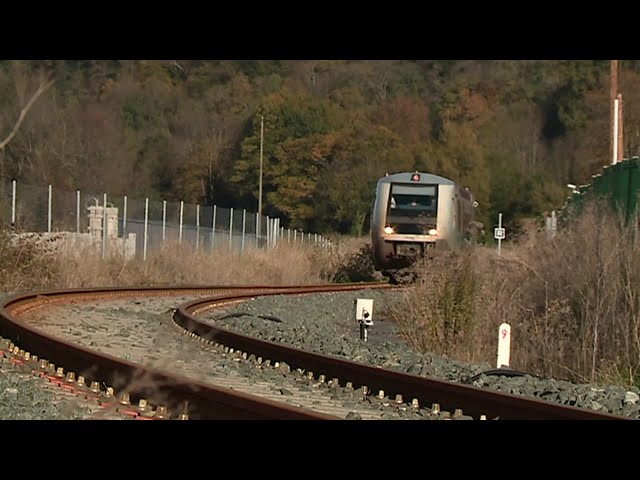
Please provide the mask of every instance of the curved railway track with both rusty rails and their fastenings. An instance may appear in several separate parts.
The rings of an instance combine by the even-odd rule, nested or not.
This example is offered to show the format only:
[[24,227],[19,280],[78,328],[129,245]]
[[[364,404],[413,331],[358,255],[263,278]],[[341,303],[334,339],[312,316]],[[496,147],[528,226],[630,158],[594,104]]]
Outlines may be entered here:
[[[387,287],[384,284],[345,284],[35,292],[14,296],[4,302],[0,310],[0,335],[8,340],[4,348],[0,344],[0,356],[4,354],[14,362],[28,364],[34,372],[57,379],[68,388],[73,383],[73,388],[80,393],[102,397],[105,403],[111,401],[121,408],[124,405],[138,416],[149,418],[187,418],[187,415],[193,419],[345,418],[345,411],[333,406],[329,400],[339,397],[338,391],[342,389],[358,392],[365,404],[377,402],[387,408],[409,412],[426,409],[434,418],[625,419],[304,352],[220,329],[198,318],[199,314],[211,309],[258,295],[300,295]],[[193,349],[204,349],[224,359],[221,368],[225,372],[230,370],[230,364],[242,364],[247,368],[273,371],[276,376],[294,376],[296,386],[281,388],[280,393],[274,396],[265,393],[269,392],[266,384],[254,382],[249,385],[235,374],[225,373],[223,378],[217,373],[216,381],[196,379],[173,369],[148,366],[141,361],[127,360],[52,336],[32,320],[38,314],[55,308],[69,309],[90,302],[135,301],[154,297],[197,297],[183,302],[175,310],[173,328],[176,333],[180,331],[191,339]],[[8,344],[9,340],[15,345]],[[34,361],[34,355],[38,356],[37,361]],[[211,360],[213,357],[207,358],[207,362],[214,361]],[[61,367],[64,370],[60,371]],[[68,373],[71,371],[73,376]],[[75,373],[82,376],[80,384]],[[107,386],[113,390],[108,390]],[[292,397],[300,393],[301,397],[296,397],[298,405],[282,400],[281,392],[287,390]],[[117,397],[114,396],[116,392],[119,393]],[[154,411],[149,404],[158,408]],[[364,407],[351,408],[356,412],[356,418],[376,418],[369,415]]]

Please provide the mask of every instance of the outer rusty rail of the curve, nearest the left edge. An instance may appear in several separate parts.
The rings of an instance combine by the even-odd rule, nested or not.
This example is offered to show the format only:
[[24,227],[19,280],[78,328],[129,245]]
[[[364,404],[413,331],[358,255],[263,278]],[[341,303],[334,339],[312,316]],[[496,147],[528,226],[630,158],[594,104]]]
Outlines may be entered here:
[[[345,284],[342,290],[376,288],[381,284]],[[335,419],[335,417],[311,412],[291,405],[261,399],[223,387],[191,380],[147,368],[123,359],[91,351],[40,332],[20,321],[35,308],[50,304],[75,303],[115,297],[148,297],[180,294],[211,295],[217,292],[284,293],[287,291],[332,291],[336,286],[315,285],[308,287],[219,286],[219,287],[171,287],[171,288],[90,288],[48,290],[14,295],[0,309],[0,336],[13,340],[20,348],[47,358],[56,365],[64,365],[83,375],[88,381],[99,381],[119,390],[126,390],[131,400],[145,398],[158,405],[167,405],[175,412],[188,408],[193,419]]]

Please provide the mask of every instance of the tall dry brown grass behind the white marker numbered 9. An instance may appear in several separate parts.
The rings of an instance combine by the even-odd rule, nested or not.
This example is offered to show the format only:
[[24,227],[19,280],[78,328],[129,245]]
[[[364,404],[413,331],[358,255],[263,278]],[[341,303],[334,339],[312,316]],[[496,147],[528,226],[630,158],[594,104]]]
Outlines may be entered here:
[[495,364],[507,322],[513,368],[640,383],[640,241],[610,212],[591,207],[553,239],[530,228],[501,256],[438,253],[417,269],[390,312],[415,347]]

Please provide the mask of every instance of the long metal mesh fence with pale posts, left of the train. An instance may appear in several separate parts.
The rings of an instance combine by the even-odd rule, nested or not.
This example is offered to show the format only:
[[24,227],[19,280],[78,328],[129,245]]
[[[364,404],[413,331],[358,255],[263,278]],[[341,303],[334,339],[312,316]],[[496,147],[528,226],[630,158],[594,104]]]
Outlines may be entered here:
[[[240,253],[278,243],[328,244],[322,235],[285,229],[279,218],[258,216],[245,209],[70,192],[51,186],[18,185],[16,181],[1,185],[1,189],[2,223],[20,231],[89,234],[102,243],[103,255],[115,239],[135,242],[132,255],[145,259],[168,242],[198,250],[226,248]],[[131,234],[135,234],[135,240]]]

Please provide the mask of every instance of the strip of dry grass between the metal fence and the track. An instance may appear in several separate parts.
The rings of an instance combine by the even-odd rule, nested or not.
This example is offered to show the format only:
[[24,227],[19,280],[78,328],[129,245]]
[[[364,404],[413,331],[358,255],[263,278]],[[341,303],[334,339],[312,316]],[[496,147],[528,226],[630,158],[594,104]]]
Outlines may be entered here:
[[0,288],[21,291],[88,286],[308,285],[334,281],[341,265],[357,256],[362,240],[335,239],[327,248],[280,244],[274,249],[198,251],[167,244],[147,260],[101,258],[100,248],[84,246],[43,253],[33,242],[0,238]]

